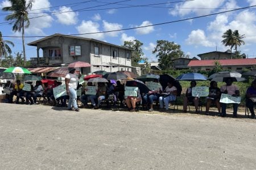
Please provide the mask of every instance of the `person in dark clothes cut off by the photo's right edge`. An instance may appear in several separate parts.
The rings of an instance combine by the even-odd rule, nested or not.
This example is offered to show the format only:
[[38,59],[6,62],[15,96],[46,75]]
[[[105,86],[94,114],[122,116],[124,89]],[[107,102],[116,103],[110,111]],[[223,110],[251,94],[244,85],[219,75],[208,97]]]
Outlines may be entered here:
[[254,113],[254,104],[256,104],[256,80],[251,82],[251,87],[247,88],[246,91],[246,106],[249,108],[251,112],[251,118],[255,118]]

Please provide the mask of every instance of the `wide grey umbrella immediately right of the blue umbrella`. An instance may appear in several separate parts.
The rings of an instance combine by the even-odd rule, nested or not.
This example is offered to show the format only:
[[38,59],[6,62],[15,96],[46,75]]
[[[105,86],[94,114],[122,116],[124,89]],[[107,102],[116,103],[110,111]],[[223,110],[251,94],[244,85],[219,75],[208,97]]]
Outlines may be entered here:
[[226,79],[231,78],[233,82],[242,82],[246,80],[245,78],[241,78],[242,74],[234,71],[221,71],[219,73],[214,73],[209,76],[209,80],[216,81],[216,82],[225,82]]

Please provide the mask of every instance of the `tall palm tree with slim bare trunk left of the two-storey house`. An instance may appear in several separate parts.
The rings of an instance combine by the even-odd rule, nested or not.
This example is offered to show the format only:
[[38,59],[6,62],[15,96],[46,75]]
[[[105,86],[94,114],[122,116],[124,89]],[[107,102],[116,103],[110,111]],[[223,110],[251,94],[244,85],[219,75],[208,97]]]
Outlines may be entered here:
[[26,66],[26,52],[25,52],[25,43],[24,43],[24,28],[27,28],[30,25],[28,19],[28,10],[31,10],[32,0],[28,2],[26,0],[9,0],[11,6],[3,7],[3,11],[10,11],[11,14],[6,16],[6,20],[10,21],[10,24],[13,24],[13,31],[20,32],[22,31],[22,44],[23,44],[23,57],[24,65]]

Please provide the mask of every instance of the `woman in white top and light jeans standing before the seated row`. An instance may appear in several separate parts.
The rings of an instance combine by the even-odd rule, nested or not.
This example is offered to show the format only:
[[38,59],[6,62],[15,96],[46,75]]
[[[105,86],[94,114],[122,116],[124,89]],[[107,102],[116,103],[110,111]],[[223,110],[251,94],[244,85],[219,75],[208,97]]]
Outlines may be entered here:
[[79,112],[79,108],[76,104],[76,88],[77,88],[77,82],[79,78],[74,74],[75,68],[69,68],[68,74],[65,76],[65,84],[66,84],[66,91],[67,95],[69,95],[68,100],[68,110],[72,111],[72,106],[75,108],[75,111]]

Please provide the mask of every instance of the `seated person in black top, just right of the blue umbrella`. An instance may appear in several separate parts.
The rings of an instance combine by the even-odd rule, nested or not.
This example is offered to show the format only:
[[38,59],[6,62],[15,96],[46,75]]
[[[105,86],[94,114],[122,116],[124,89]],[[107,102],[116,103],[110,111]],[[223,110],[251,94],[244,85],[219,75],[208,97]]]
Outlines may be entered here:
[[217,82],[215,81],[210,82],[209,96],[207,97],[205,114],[207,115],[209,114],[209,108],[212,103],[216,104],[216,107],[218,108],[218,114],[219,115],[221,114],[220,95],[221,95],[221,91],[220,91],[220,88],[217,87]]

